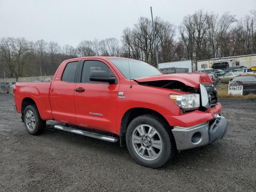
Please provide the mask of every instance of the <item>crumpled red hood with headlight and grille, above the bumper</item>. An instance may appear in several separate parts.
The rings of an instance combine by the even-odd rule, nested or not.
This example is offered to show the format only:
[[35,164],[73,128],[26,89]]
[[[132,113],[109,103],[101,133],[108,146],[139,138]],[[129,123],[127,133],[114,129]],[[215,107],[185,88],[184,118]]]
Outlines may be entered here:
[[[187,76],[186,76],[187,75]],[[198,73],[195,74],[198,77]],[[176,103],[184,113],[192,110],[205,111],[218,104],[218,94],[212,85],[212,81],[207,74],[202,74],[196,79],[191,79],[191,74],[169,75],[168,79],[138,79],[135,80],[143,86],[158,87],[175,90],[178,94],[170,94],[170,98]],[[166,75],[163,75],[166,76]],[[173,78],[172,78],[173,77]]]

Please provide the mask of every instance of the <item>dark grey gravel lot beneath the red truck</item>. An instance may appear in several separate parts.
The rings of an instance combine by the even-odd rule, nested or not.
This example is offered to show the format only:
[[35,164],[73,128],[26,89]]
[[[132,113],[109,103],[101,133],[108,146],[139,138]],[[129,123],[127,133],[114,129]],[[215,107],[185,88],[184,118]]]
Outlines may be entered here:
[[166,166],[138,165],[118,144],[54,130],[25,130],[0,94],[0,191],[256,191],[256,100],[221,99],[226,137],[178,154]]

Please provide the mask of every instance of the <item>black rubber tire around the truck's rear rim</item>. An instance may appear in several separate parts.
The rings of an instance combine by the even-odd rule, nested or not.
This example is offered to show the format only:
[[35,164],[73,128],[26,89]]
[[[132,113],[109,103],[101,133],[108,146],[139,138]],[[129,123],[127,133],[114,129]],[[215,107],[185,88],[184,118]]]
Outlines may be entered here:
[[[34,122],[34,128],[31,128],[31,127],[29,128],[29,126],[26,123],[26,114],[27,114],[27,112],[29,113],[29,111],[31,111],[33,113],[33,116],[34,116],[34,121],[33,121]],[[26,106],[26,108],[24,110],[24,114],[23,114],[23,120],[24,120],[26,130],[31,135],[41,134],[44,131],[44,128],[46,126],[46,121],[41,119],[36,105]]]

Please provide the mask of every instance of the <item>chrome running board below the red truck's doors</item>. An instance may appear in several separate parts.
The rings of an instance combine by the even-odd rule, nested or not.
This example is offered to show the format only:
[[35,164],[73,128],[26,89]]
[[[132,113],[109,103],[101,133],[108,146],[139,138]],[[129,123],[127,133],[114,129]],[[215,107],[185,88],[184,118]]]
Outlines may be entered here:
[[112,143],[116,143],[119,140],[116,137],[111,137],[111,136],[102,135],[102,134],[98,134],[98,133],[92,133],[92,132],[89,132],[89,131],[84,131],[84,130],[70,128],[70,127],[61,126],[61,125],[54,125],[54,128],[59,129],[59,130],[63,130],[63,131],[67,131],[67,132],[70,132],[70,133],[75,133],[75,134],[79,134],[79,135],[84,135],[84,136],[88,136],[88,137],[92,137],[92,138],[112,142]]

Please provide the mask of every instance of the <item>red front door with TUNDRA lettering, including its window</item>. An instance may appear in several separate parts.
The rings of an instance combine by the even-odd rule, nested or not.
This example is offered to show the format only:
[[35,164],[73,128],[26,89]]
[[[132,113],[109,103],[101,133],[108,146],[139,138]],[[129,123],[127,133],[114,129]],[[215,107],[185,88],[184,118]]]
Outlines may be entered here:
[[[81,62],[75,92],[76,122],[79,126],[108,132],[116,131],[119,79],[106,61],[95,59]],[[116,77],[115,84],[90,81],[92,71],[106,71]]]

